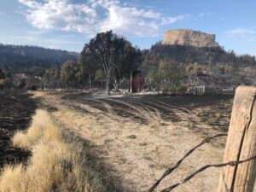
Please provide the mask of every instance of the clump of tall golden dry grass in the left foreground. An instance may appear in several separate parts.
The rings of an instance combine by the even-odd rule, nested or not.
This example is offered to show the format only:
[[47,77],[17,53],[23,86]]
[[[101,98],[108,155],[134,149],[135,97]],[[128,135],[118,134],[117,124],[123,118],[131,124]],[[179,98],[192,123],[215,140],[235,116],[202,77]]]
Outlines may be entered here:
[[82,171],[78,148],[65,142],[49,113],[38,110],[28,131],[18,132],[13,142],[32,150],[32,157],[28,166],[3,168],[1,192],[93,191]]

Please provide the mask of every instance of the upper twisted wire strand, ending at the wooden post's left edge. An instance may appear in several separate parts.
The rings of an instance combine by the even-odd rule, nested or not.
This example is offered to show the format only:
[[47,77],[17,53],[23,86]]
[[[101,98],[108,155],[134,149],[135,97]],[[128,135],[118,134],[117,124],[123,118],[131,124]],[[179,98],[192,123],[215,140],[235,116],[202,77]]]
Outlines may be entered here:
[[227,134],[223,133],[223,134],[218,134],[212,137],[207,137],[205,138],[201,143],[199,143],[198,145],[196,145],[194,148],[191,148],[186,154],[184,154],[184,156],[177,161],[177,163],[175,164],[175,166],[172,166],[170,168],[168,168],[166,170],[166,172],[164,172],[164,174],[154,183],[154,185],[148,190],[148,192],[153,192],[154,189],[157,188],[157,186],[161,183],[161,181],[167,177],[168,175],[170,175],[174,170],[176,170],[183,162],[183,160],[185,160],[187,157],[189,157],[190,154],[192,154],[195,149],[200,148],[202,145],[209,143],[212,141],[212,139],[217,138],[217,137],[226,137]]

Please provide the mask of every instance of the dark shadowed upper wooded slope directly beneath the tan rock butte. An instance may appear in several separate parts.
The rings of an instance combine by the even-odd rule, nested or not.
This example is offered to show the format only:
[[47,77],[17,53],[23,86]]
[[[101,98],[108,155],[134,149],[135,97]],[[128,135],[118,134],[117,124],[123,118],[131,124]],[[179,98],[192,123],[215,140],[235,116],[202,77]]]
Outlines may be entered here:
[[151,63],[159,60],[172,60],[179,63],[230,64],[237,66],[256,65],[255,56],[236,55],[233,50],[221,47],[191,47],[181,45],[154,44],[148,50],[146,60]]

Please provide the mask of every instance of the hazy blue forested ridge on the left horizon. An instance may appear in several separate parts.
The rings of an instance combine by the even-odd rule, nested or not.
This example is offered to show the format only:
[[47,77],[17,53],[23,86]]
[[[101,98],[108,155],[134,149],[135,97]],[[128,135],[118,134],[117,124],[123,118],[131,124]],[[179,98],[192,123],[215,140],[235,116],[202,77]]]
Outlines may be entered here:
[[0,44],[0,68],[9,73],[42,73],[45,68],[78,58],[79,54],[64,50]]

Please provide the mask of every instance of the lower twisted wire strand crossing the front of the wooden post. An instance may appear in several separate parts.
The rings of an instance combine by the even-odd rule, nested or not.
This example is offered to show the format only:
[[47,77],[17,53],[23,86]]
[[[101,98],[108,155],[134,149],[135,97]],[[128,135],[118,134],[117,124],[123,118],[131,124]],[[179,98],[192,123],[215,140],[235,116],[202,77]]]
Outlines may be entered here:
[[177,188],[177,186],[182,185],[184,183],[187,183],[192,177],[195,177],[197,174],[204,172],[205,170],[211,168],[211,167],[224,167],[224,166],[238,166],[239,164],[242,163],[246,163],[250,160],[256,160],[256,155],[254,155],[253,157],[248,158],[247,160],[239,160],[239,161],[230,161],[230,162],[226,162],[226,163],[222,163],[222,164],[212,164],[212,165],[207,165],[207,166],[202,166],[200,169],[196,170],[195,172],[191,173],[188,177],[185,177],[183,179],[183,181],[179,182],[179,183],[175,183],[172,186],[161,190],[160,192],[170,192],[172,191],[172,189]]

